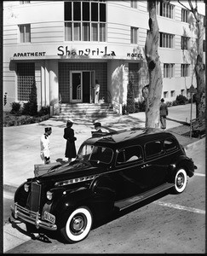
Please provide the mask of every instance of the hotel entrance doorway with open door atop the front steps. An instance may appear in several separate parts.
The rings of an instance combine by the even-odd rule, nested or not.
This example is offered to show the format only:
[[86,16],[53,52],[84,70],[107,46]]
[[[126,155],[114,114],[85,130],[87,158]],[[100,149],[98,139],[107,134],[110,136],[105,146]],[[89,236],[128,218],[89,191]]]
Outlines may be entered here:
[[92,103],[95,72],[71,71],[70,78],[70,102]]

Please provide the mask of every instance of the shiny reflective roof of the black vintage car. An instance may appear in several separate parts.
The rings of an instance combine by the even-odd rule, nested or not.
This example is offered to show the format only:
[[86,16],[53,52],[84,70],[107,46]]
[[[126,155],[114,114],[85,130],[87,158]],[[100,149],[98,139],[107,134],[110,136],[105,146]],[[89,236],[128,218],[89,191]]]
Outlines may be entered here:
[[[119,148],[125,145],[135,145],[137,140],[139,143],[146,143],[154,139],[164,139],[165,137],[174,137],[170,132],[160,131],[158,129],[150,130],[134,130],[117,132],[105,135],[103,137],[91,137],[84,143]],[[175,138],[175,137],[174,137]]]

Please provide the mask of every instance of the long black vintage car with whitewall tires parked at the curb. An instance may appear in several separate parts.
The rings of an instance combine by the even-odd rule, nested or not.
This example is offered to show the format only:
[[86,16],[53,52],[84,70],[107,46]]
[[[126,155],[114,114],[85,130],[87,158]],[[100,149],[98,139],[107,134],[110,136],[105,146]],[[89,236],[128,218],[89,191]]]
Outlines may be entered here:
[[14,195],[12,216],[67,242],[89,235],[95,220],[166,189],[179,194],[196,166],[169,132],[126,131],[91,137],[71,164],[28,178]]

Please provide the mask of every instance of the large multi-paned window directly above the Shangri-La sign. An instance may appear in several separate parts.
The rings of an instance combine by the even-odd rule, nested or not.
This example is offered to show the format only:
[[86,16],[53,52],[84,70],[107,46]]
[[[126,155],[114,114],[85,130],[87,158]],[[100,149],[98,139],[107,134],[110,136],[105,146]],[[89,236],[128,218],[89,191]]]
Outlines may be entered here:
[[65,40],[106,42],[105,2],[65,2]]

